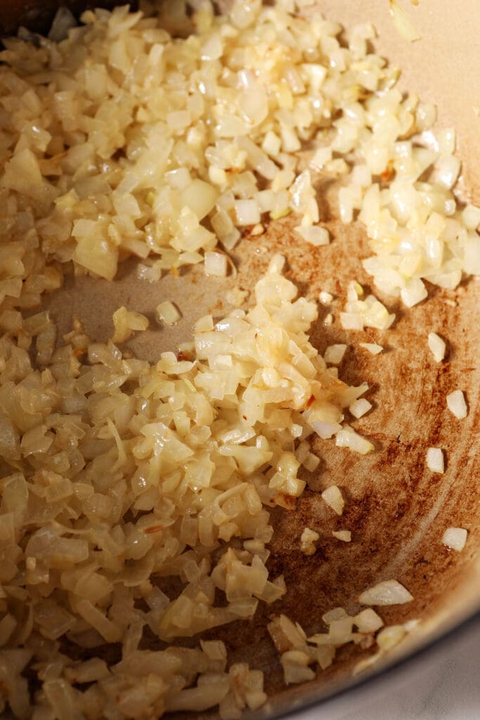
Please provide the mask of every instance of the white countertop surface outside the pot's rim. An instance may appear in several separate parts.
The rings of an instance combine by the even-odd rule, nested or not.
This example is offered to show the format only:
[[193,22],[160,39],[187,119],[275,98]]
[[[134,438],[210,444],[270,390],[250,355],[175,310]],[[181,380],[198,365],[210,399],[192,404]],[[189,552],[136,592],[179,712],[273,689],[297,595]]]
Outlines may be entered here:
[[333,698],[294,720],[480,720],[480,622],[388,681],[367,683],[355,696]]

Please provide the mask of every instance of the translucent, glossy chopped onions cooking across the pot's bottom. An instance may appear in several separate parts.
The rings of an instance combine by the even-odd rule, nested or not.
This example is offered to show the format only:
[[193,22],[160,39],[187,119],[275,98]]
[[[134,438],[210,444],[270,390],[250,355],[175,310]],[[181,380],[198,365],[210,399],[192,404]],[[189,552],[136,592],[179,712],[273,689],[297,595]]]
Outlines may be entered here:
[[[13,140],[2,145],[0,455],[12,469],[1,486],[0,705],[18,717],[255,711],[266,700],[262,672],[227,670],[222,643],[183,639],[249,621],[259,602],[286,593],[266,567],[268,513],[291,510],[303,469],[317,468],[312,431],[373,449],[343,425],[345,408],[361,417],[370,407],[358,400],[364,387],[325,367],[345,348],[330,346],[324,359],[309,342],[318,308],[281,276],[283,256],[248,310],[243,291],[231,291],[237,309],[200,318],[178,356],[163,352],[155,364],[115,344],[148,327],[126,307],[108,343],[91,342],[73,320],[55,346],[55,326],[35,307],[61,286],[65,264],[112,280],[134,256],[152,283],[201,262],[224,277],[218,246],[232,251],[237,226],[249,226],[263,251],[266,213],[295,213],[285,226],[296,227],[297,244],[325,245],[320,169],[341,179],[343,221],[358,217],[366,230],[373,256],[363,268],[380,297],[412,307],[427,296],[424,280],[453,289],[464,272],[480,272],[480,211],[461,210],[452,192],[455,134],[435,142],[435,108],[394,87],[399,73],[368,47],[371,24],[344,42],[312,0],[237,0],[226,17],[209,2],[188,5],[167,3],[161,22],[125,6],[89,10],[78,28],[62,10],[50,33],[58,45],[33,48],[38,38],[25,32],[5,41],[2,112]],[[396,2],[391,9],[415,39]],[[171,325],[180,313],[166,300],[157,317]],[[340,320],[385,330],[394,315],[353,282]],[[322,496],[343,513],[338,487]],[[350,541],[350,531],[332,536]],[[307,552],[317,540],[305,528]],[[151,582],[158,576],[182,587],[170,598]],[[365,634],[379,618],[365,613],[335,608],[328,632],[309,639],[285,616],[273,621],[286,681],[313,678],[312,666],[328,667],[346,642],[373,643]],[[412,627],[381,631],[377,657]],[[166,649],[140,649],[145,630]],[[76,657],[105,642],[119,646],[116,665],[58,650],[76,645]]]

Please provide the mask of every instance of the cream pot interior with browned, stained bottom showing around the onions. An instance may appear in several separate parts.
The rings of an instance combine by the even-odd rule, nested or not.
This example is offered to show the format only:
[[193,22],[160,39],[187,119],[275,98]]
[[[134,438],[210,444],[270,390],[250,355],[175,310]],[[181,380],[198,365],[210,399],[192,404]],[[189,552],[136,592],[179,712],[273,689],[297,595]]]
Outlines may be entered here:
[[[53,1],[2,3],[2,30],[13,32],[23,24],[30,30],[45,31],[56,5]],[[76,1],[70,5],[77,13],[85,6]],[[480,18],[476,1],[458,6],[443,0],[422,0],[420,6],[409,8],[422,33],[422,40],[413,44],[399,37],[384,0],[354,4],[323,0],[322,9],[327,17],[346,26],[366,19],[376,25],[376,49],[403,68],[402,87],[438,104],[439,127],[456,127],[458,153],[463,160],[462,192],[479,202],[480,118],[474,107],[480,104],[476,58]],[[472,22],[475,17],[478,22]],[[335,279],[338,299],[334,310],[343,307],[350,279],[370,287],[371,278],[361,266],[361,259],[369,254],[361,225],[354,222],[345,227],[338,222],[334,187],[319,180],[318,192],[321,220],[333,238],[330,246],[320,248],[321,252],[316,248],[309,251],[305,244],[294,242],[289,217],[271,222],[266,235],[245,235],[235,250],[240,285],[253,287],[272,254],[281,252],[288,260],[290,278],[307,296],[317,295],[325,283]],[[180,278],[166,276],[158,284],[147,285],[136,279],[135,263],[126,261],[111,284],[89,276],[67,278],[63,289],[47,297],[45,305],[53,311],[59,336],[68,331],[75,313],[94,340],[103,340],[112,333],[110,318],[119,305],[148,313],[168,297],[182,312],[178,325],[168,332],[148,330],[127,343],[140,357],[154,360],[161,351],[175,349],[179,341],[189,338],[192,320],[202,312],[221,315],[227,310],[222,297],[232,282],[209,279],[206,288],[201,271],[188,271]],[[269,568],[273,575],[284,574],[288,588],[276,611],[281,609],[312,633],[319,629],[327,609],[344,606],[355,610],[354,598],[364,588],[395,577],[409,588],[415,600],[407,606],[382,608],[386,624],[409,618],[422,621],[397,656],[408,655],[461,624],[478,611],[480,604],[479,472],[475,461],[480,285],[471,278],[453,291],[433,286],[428,289],[429,300],[409,311],[377,292],[397,313],[386,351],[373,357],[358,352],[352,344],[340,366],[345,382],[366,380],[373,390],[369,397],[373,398],[374,411],[361,418],[356,428],[373,438],[376,451],[359,458],[336,449],[331,441],[319,439],[314,450],[322,462],[297,501],[296,510],[273,511],[275,534]],[[440,364],[427,349],[430,330],[448,339],[448,355]],[[338,323],[325,327],[320,316],[312,343],[323,352],[326,346],[343,342],[349,343],[348,334]],[[469,413],[462,421],[445,410],[445,395],[456,388],[468,397]],[[425,453],[429,446],[445,449],[445,474],[433,475],[427,470]],[[320,501],[318,490],[332,483],[341,487],[347,499],[341,522],[332,519]],[[299,549],[305,526],[322,528],[320,548],[314,557],[304,556]],[[448,551],[441,543],[449,526],[468,529],[468,543],[461,554]],[[331,531],[340,528],[350,528],[354,541],[344,544],[332,539]],[[266,689],[273,703],[269,711],[330,695],[351,683],[350,671],[358,660],[358,649],[344,648],[338,652],[338,661],[308,686],[285,689],[278,655],[266,631],[269,613],[268,606],[260,606],[253,621],[239,621],[210,633],[212,638],[225,641],[230,662],[254,658],[255,667],[266,673]],[[384,664],[388,662],[391,659]],[[372,672],[379,670],[381,664]]]

